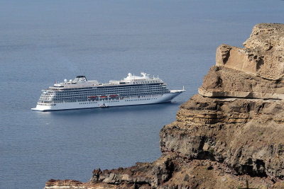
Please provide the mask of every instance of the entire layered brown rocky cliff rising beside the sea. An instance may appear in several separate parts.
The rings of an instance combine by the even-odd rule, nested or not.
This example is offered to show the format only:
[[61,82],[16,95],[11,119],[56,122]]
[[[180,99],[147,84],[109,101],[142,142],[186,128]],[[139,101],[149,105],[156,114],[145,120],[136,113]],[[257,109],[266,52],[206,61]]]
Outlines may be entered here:
[[283,188],[283,58],[284,25],[256,25],[244,48],[217,48],[199,93],[160,131],[159,159],[45,188]]

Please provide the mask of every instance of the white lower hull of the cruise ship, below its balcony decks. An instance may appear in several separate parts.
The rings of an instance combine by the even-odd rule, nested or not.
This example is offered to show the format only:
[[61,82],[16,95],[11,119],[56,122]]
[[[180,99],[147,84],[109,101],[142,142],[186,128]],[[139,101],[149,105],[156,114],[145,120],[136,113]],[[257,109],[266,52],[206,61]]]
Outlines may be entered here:
[[36,108],[31,108],[32,110],[38,111],[52,111],[52,110],[70,110],[70,109],[80,109],[80,108],[105,108],[112,106],[122,106],[122,105],[143,105],[152,103],[166,103],[170,102],[182,93],[184,90],[170,91],[170,93],[165,93],[163,95],[153,95],[153,96],[133,96],[131,98],[114,98],[111,100],[104,101],[83,101],[83,102],[72,102],[72,103],[54,103],[50,105],[36,105]]

